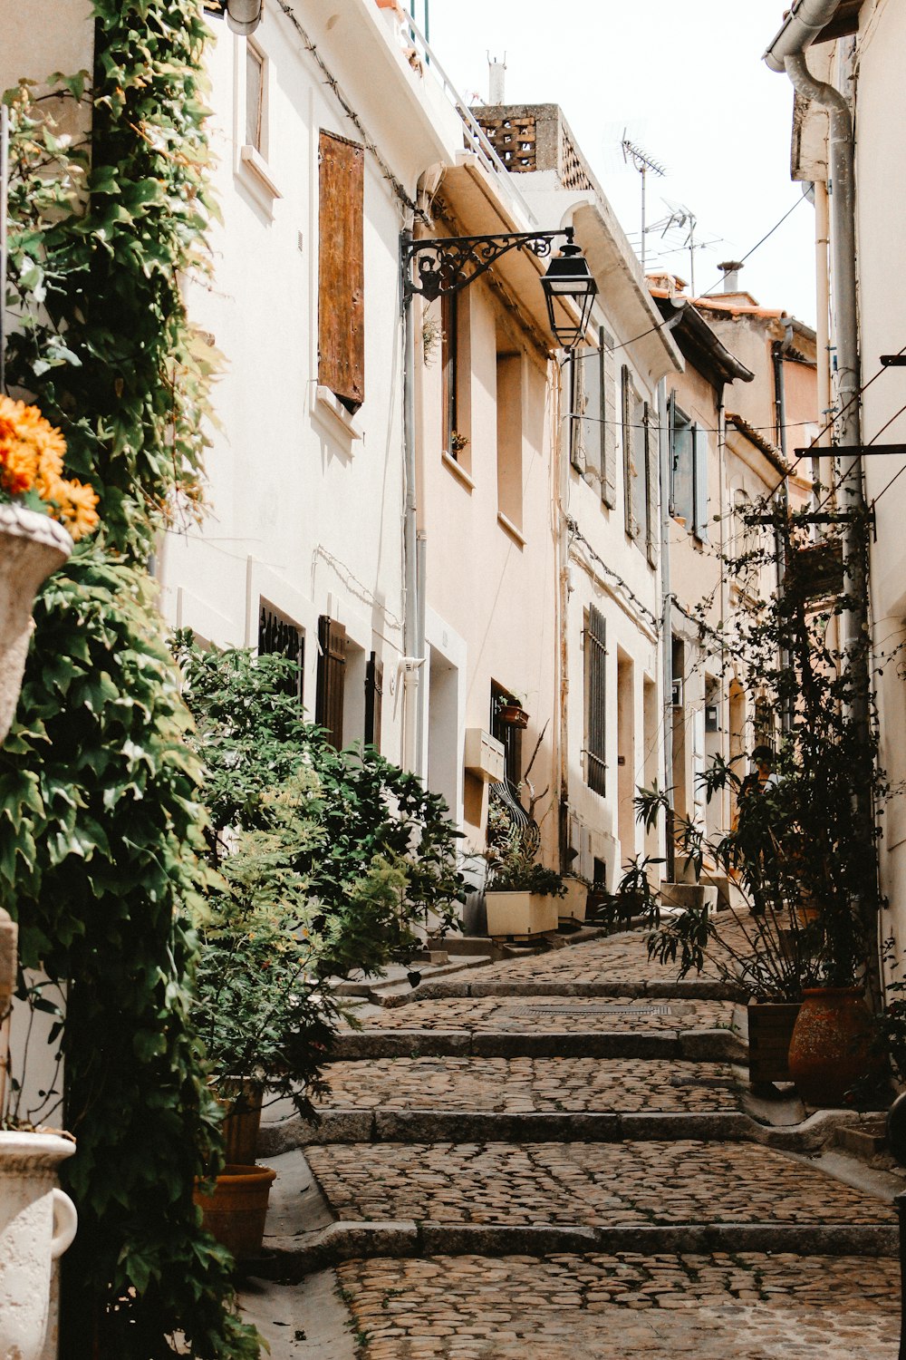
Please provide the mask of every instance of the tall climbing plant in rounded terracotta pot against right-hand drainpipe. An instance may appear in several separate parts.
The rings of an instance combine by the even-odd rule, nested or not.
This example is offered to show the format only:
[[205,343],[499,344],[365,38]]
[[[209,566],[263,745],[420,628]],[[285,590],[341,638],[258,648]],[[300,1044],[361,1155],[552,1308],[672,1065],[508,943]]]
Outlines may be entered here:
[[[845,583],[837,582],[835,596],[810,594],[796,568],[808,525],[782,509],[772,513],[786,575],[770,598],[757,578],[740,590],[743,608],[720,635],[717,660],[759,698],[762,711],[784,715],[782,730],[750,758],[719,756],[704,771],[708,800],[731,794],[733,820],[724,834],[709,838],[676,817],[668,794],[656,787],[636,800],[649,828],[662,812],[672,823],[676,853],[695,877],[705,864],[723,872],[740,888],[746,908],[714,918],[705,908],[667,917],[652,891],[648,944],[652,956],[678,964],[679,976],[701,971],[706,957],[712,971],[751,996],[753,1024],[767,1002],[799,1005],[789,1074],[807,1103],[839,1104],[873,1065],[871,1017],[861,1000],[865,987],[873,1000],[879,991],[882,903],[871,802],[887,789],[876,759],[868,642],[844,650],[837,641],[837,620],[852,607]],[[776,551],[774,541],[765,543],[728,568],[757,570]],[[705,626],[702,608],[708,638],[713,630],[708,634]],[[748,762],[751,772],[744,772]]]

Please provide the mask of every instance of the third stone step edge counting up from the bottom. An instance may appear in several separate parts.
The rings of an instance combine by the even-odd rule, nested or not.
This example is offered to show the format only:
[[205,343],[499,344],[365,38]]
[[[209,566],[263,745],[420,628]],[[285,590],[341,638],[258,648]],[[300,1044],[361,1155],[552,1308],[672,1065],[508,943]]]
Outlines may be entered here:
[[365,1058],[674,1058],[686,1062],[743,1061],[746,1044],[729,1030],[638,1032],[508,1030],[346,1030],[330,1062]]

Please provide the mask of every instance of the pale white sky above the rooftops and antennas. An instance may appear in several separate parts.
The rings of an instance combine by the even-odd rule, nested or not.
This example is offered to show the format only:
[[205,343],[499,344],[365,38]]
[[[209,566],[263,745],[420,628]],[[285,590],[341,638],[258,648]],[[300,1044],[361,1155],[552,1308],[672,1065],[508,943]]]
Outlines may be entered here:
[[[638,242],[640,175],[628,137],[667,170],[647,175],[647,218],[697,219],[695,291],[720,291],[721,260],[762,306],[815,324],[815,215],[789,178],[793,91],[761,54],[784,0],[416,0],[431,46],[459,92],[488,99],[488,54],[505,56],[507,103],[560,103],[623,230]],[[409,5],[407,5],[409,7]],[[667,200],[667,201],[664,201]],[[687,227],[647,234],[648,271],[690,277]],[[662,252],[681,248],[676,253]]]

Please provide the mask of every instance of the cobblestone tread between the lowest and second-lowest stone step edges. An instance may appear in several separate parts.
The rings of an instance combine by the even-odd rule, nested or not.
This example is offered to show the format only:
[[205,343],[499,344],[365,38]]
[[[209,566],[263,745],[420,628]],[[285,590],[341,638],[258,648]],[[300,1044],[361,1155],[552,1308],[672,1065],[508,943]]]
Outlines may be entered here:
[[846,1223],[892,1205],[750,1142],[350,1144],[310,1148],[338,1219],[417,1223]]

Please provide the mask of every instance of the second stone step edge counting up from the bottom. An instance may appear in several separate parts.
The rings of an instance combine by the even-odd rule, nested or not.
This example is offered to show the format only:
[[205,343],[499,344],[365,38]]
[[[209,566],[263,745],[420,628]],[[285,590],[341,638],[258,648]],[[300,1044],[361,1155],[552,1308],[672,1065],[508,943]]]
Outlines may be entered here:
[[782,1152],[823,1148],[852,1111],[825,1110],[799,1125],[767,1127],[739,1110],[706,1112],[560,1111],[497,1114],[488,1110],[325,1110],[318,1122],[293,1115],[265,1125],[258,1156],[276,1157],[299,1148],[352,1142],[758,1142]]

